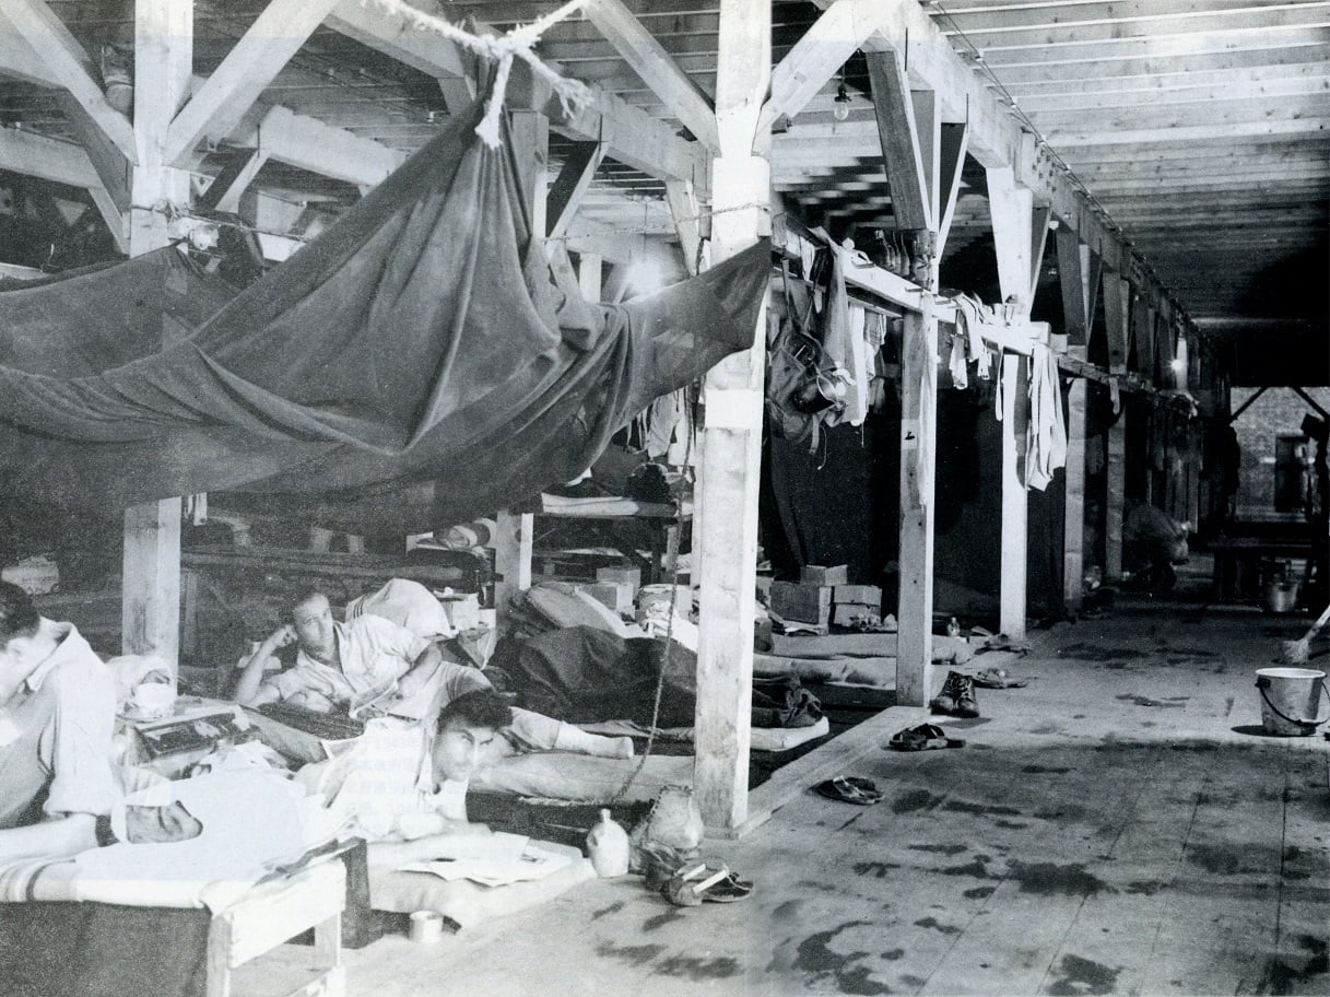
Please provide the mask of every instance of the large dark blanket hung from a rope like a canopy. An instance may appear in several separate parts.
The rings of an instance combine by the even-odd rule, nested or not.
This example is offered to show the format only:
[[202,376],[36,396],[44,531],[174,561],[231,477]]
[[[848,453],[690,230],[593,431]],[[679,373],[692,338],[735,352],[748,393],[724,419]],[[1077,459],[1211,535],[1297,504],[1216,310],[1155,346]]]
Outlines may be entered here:
[[238,294],[174,248],[0,292],[0,502],[221,491],[432,528],[575,477],[753,343],[765,244],[625,305],[565,297],[483,110]]

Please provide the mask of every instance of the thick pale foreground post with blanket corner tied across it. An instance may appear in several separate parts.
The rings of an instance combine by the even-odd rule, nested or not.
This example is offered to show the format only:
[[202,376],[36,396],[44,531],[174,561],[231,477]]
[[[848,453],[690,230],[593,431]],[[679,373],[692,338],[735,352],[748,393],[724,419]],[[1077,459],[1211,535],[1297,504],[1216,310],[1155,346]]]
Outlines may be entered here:
[[[717,63],[721,156],[712,162],[712,238],[714,260],[721,261],[751,245],[769,224],[771,168],[754,154],[770,148],[769,128],[758,128],[771,73],[767,0],[721,0]],[[704,820],[720,829],[735,828],[747,816],[765,330],[763,305],[753,347],[722,361],[706,378],[693,777]]]

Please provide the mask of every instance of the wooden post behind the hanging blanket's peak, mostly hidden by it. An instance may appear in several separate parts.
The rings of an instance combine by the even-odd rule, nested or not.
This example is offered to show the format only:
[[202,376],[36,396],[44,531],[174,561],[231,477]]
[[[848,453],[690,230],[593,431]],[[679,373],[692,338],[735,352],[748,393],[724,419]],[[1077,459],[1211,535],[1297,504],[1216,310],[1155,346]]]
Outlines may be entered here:
[[[525,169],[519,178],[523,196],[531,208],[531,237],[543,238],[545,232],[545,166],[549,150],[549,120],[535,110],[512,112],[512,144],[517,150],[517,162]],[[559,249],[564,253],[563,248]],[[567,253],[563,254],[563,264],[568,272],[572,264],[568,262]],[[556,277],[560,268],[556,265]],[[560,284],[567,285],[568,273],[563,274]],[[573,277],[576,285],[576,277]],[[568,290],[576,292],[576,286]],[[495,610],[499,611],[500,620],[517,592],[531,588],[531,555],[535,543],[535,516],[531,512],[509,512],[500,510],[495,519],[497,536],[495,536],[495,572],[499,575],[495,582]]]

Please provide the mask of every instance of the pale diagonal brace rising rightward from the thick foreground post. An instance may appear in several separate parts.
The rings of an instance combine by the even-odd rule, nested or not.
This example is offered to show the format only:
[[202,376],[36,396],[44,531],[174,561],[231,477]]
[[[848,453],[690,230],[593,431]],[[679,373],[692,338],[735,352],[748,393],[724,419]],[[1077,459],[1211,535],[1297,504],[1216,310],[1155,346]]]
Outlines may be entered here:
[[878,27],[879,0],[835,0],[771,71],[765,125],[794,117]]

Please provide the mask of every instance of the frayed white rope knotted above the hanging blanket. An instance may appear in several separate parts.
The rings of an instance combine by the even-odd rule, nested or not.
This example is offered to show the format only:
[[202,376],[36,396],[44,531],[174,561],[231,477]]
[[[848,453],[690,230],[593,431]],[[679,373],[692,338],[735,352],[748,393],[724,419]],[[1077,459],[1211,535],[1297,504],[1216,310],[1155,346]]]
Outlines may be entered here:
[[404,0],[360,0],[362,7],[378,7],[386,13],[396,15],[415,31],[428,32],[439,37],[455,41],[469,52],[484,56],[499,64],[493,89],[489,93],[489,102],[485,105],[485,116],[476,125],[476,134],[484,140],[491,149],[499,148],[499,113],[503,109],[503,99],[508,87],[508,72],[512,60],[520,59],[531,67],[531,71],[548,83],[559,96],[559,102],[567,114],[576,114],[584,109],[592,99],[591,88],[580,80],[569,80],[545,65],[532,52],[532,47],[540,41],[540,36],[559,21],[563,21],[583,7],[589,0],[569,0],[563,7],[551,11],[544,17],[523,24],[504,35],[472,35],[442,17],[419,11],[404,3]]

